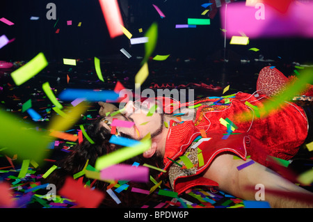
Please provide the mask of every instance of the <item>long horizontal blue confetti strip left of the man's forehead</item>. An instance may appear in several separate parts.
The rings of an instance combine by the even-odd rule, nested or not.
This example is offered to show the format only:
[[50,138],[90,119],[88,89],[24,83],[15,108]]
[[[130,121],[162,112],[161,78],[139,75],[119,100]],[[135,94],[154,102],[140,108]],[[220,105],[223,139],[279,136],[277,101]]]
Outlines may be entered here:
[[98,102],[105,100],[118,100],[118,93],[115,93],[113,90],[89,90],[89,89],[74,89],[67,88],[63,90],[58,96],[61,100],[72,101],[77,98],[85,98],[90,102]]

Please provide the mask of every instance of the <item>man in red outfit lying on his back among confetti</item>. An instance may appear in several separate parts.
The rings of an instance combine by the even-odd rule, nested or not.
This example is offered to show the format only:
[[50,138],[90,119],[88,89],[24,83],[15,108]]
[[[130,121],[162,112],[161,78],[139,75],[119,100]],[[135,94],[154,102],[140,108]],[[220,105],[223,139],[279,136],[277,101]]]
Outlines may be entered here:
[[[223,101],[214,104],[217,99],[210,97],[187,104],[173,104],[175,101],[172,101],[171,106],[163,106],[163,98],[144,102],[129,101],[123,112],[112,117],[105,113],[118,108],[113,104],[99,102],[102,106],[99,114],[102,117],[87,129],[95,144],[84,140],[77,145],[73,154],[61,163],[61,171],[51,175],[50,182],[60,187],[64,177],[81,171],[87,159],[90,164],[94,164],[97,157],[120,148],[109,143],[112,135],[111,122],[113,118],[117,118],[134,122],[131,128],[116,127],[117,136],[141,140],[150,134],[152,139],[149,150],[126,163],[138,161],[163,168],[167,173],[156,173],[152,176],[159,181],[168,178],[172,189],[179,194],[197,186],[218,187],[221,191],[244,200],[255,200],[255,187],[262,184],[265,188],[264,200],[271,207],[313,207],[313,193],[298,187],[295,177],[282,177],[268,168],[271,164],[268,161],[269,156],[291,159],[301,151],[301,145],[312,141],[310,106],[303,108],[287,102],[265,118],[257,118],[246,104],[249,102],[253,106],[262,107],[268,96],[273,95],[273,89],[285,84],[282,80],[286,79],[278,78],[280,75],[278,70],[264,68],[258,80],[259,95],[255,97],[256,95],[247,93],[236,93],[229,98],[228,104],[223,104]],[[266,85],[262,79],[264,76],[267,79],[273,77],[271,82],[274,82],[273,86],[276,88],[262,88]],[[158,105],[157,111],[152,116],[147,116],[155,102]],[[195,106],[197,104],[201,105]],[[189,109],[188,106],[196,108]],[[177,107],[181,113],[185,113],[179,116],[181,120],[172,115]],[[236,115],[243,111],[252,113],[252,118],[243,121],[243,116]],[[144,122],[147,123],[143,124]],[[168,122],[168,127],[164,122]],[[210,139],[198,143],[199,138],[206,136]],[[199,152],[203,157],[201,162],[198,159]],[[179,159],[182,156],[186,156],[193,166],[186,167]],[[250,157],[247,158],[248,156]],[[241,168],[247,163],[248,166]],[[99,182],[95,187],[105,190],[107,185]],[[124,203],[129,203],[129,206],[132,200],[138,200],[127,196],[127,193],[124,195],[120,198],[125,198]]]

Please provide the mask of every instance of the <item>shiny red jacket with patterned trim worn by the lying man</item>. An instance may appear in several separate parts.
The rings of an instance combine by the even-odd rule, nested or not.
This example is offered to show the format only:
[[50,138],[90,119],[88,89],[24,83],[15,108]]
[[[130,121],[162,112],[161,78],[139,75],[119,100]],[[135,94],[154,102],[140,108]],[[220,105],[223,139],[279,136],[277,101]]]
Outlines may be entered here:
[[[218,187],[216,182],[200,175],[217,154],[232,152],[244,160],[250,156],[250,159],[266,166],[268,155],[291,159],[305,141],[308,130],[307,118],[303,109],[296,104],[286,102],[280,109],[275,109],[268,116],[259,118],[257,111],[251,107],[262,108],[264,102],[270,100],[265,95],[255,97],[248,93],[236,93],[233,97],[220,99],[222,98],[208,97],[182,104],[188,107],[204,102],[215,102],[214,105],[198,106],[193,121],[170,121],[163,158],[164,169],[169,171],[175,162],[177,164],[181,160],[179,157],[186,154],[187,148],[193,145],[196,146],[195,149],[198,148],[198,153],[200,152],[203,157],[203,161],[201,159],[196,162],[193,171],[178,173],[179,176],[172,179],[172,189],[177,193],[200,185]],[[178,106],[170,106],[170,112],[173,111],[173,107],[177,109]],[[169,112],[168,107],[164,109]],[[243,115],[237,115],[239,113],[246,113],[244,116],[250,115],[250,120],[243,121]],[[208,141],[195,145],[195,140],[198,141],[205,136]],[[182,161],[180,163],[184,165]],[[186,169],[186,166],[183,168]]]

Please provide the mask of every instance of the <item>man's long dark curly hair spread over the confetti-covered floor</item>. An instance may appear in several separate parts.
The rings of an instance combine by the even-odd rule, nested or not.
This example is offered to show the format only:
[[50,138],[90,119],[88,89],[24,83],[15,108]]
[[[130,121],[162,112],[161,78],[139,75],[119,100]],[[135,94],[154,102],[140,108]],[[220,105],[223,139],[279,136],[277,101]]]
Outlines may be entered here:
[[[106,129],[102,125],[100,125],[101,117],[97,118],[93,123],[86,127],[86,133],[88,136],[95,142],[90,143],[86,138],[83,138],[81,143],[77,143],[74,145],[74,148],[70,154],[67,155],[64,159],[56,162],[56,166],[58,168],[47,177],[45,182],[56,185],[56,189],[59,190],[63,187],[66,177],[72,177],[75,173],[83,170],[83,167],[88,160],[88,164],[90,166],[95,166],[95,161],[98,157],[101,157],[109,152],[113,152],[119,148],[122,148],[120,145],[114,145],[109,143],[109,139],[111,138],[111,132],[109,129]],[[121,133],[121,136],[128,137],[125,134]],[[134,164],[134,161],[139,164],[150,164],[152,166],[157,166],[159,168],[163,168],[163,158],[158,154],[154,154],[151,158],[145,158],[143,155],[138,155],[134,158],[127,159],[123,161],[122,164]],[[157,180],[157,176],[159,175],[159,171],[154,169],[150,169],[150,175]],[[87,182],[89,179],[87,177],[83,177],[83,182]],[[129,187],[137,187],[141,189],[150,190],[151,187],[154,186],[152,182],[145,183],[135,183],[128,182]],[[97,180],[93,187],[99,191],[103,191],[106,193],[106,187],[109,186],[108,182],[104,182],[101,180]],[[102,207],[141,207],[147,201],[155,200],[157,195],[153,193],[146,196],[142,193],[134,193],[131,192],[131,189],[127,189],[126,191],[122,191],[119,193],[118,198],[120,198],[121,202],[119,205],[115,203],[115,201],[109,196],[106,195],[104,201],[102,203]],[[157,198],[159,199],[159,198]]]

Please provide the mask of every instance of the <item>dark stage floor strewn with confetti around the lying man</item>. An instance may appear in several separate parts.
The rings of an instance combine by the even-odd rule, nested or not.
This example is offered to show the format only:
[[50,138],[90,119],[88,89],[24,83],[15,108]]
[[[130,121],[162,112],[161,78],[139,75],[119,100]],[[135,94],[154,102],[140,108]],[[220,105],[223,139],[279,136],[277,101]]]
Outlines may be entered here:
[[[22,121],[35,125],[38,131],[44,131],[49,124],[49,119],[54,115],[51,109],[53,104],[46,97],[42,90],[42,84],[49,82],[53,88],[56,97],[65,88],[90,88],[90,89],[105,89],[113,90],[117,81],[120,81],[125,88],[134,89],[134,77],[140,68],[141,59],[137,58],[122,58],[120,56],[111,56],[100,58],[102,74],[104,82],[99,81],[95,72],[93,58],[79,60],[76,66],[63,65],[61,61],[50,61],[45,70],[37,74],[35,77],[27,81],[22,86],[16,86],[13,79],[10,77],[12,70],[0,70],[0,98],[1,110],[11,113],[17,121]],[[19,68],[26,62],[15,61],[14,69]],[[283,63],[282,61],[250,61],[244,63],[240,61],[198,61],[193,58],[171,58],[166,61],[150,61],[150,75],[142,86],[145,88],[155,88],[155,84],[174,84],[175,86],[186,85],[189,83],[212,85],[216,90],[204,88],[195,89],[195,99],[207,96],[221,96],[223,88],[230,85],[230,90],[226,95],[243,91],[253,93],[255,91],[257,77],[259,71],[267,65],[275,65],[285,75],[294,74],[294,65],[292,63]],[[13,69],[13,70],[14,70]],[[67,75],[70,78],[67,83]],[[172,86],[172,85],[171,85]],[[180,86],[182,87],[182,86]],[[192,86],[189,86],[192,88]],[[157,88],[155,88],[157,89]],[[42,119],[38,122],[31,120],[27,112],[22,113],[22,104],[30,100],[32,108],[40,113]],[[65,109],[70,106],[70,103],[64,102]],[[88,125],[98,116],[99,106],[96,103],[90,105],[88,111],[67,132],[77,134],[79,125]],[[6,126],[2,126],[6,127]],[[16,132],[17,138],[19,133]],[[3,148],[0,148],[0,181],[7,182],[12,187],[13,197],[17,201],[17,207],[78,207],[74,200],[69,200],[65,197],[58,196],[56,200],[48,201],[45,199],[47,189],[35,189],[34,187],[42,185],[42,174],[49,169],[56,160],[65,157],[68,150],[74,146],[74,143],[63,139],[56,138],[56,143],[47,152],[49,157],[43,163],[35,168],[30,165],[29,171],[23,178],[18,178],[19,169],[22,164],[22,159],[19,157],[8,156]],[[12,164],[8,161],[12,160]],[[13,168],[14,166],[14,168]],[[298,160],[289,167],[294,167],[298,172],[304,171],[307,168],[312,168],[312,161]],[[163,187],[168,189],[168,187]],[[311,189],[311,187],[306,187]],[[33,191],[29,191],[33,189]],[[226,208],[226,207],[246,207],[246,203],[240,198],[229,195],[222,191],[211,193],[208,189],[197,188],[192,189],[190,193],[181,196],[186,200],[186,205],[177,202],[170,203],[172,198],[162,196],[158,202],[145,203],[149,208],[195,208],[195,207],[210,207],[210,208]],[[143,207],[137,206],[137,207]]]

